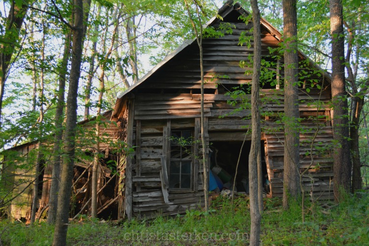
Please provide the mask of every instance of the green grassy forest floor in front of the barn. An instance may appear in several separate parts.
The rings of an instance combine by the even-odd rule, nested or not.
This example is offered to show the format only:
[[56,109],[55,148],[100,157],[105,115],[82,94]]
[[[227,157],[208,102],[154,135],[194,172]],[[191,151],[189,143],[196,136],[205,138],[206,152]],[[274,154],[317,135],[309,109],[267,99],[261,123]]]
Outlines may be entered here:
[[[369,245],[369,192],[358,192],[339,205],[309,202],[306,222],[301,208],[283,211],[281,199],[264,199],[263,245]],[[53,226],[0,221],[0,245],[51,245]],[[218,197],[209,214],[188,211],[175,217],[131,222],[80,220],[68,227],[68,245],[245,245],[250,216],[248,198]]]

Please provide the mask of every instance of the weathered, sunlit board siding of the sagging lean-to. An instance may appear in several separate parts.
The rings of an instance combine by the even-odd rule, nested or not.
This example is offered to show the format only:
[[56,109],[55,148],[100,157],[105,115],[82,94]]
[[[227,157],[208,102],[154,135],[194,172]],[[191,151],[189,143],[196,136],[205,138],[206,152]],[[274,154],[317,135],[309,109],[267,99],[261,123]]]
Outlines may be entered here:
[[[112,142],[116,142],[118,139],[118,129],[119,127],[114,122],[115,119],[111,120],[112,112],[108,111],[102,115],[101,121],[102,123],[99,125],[100,128],[100,141],[99,149],[102,153],[106,156],[109,154],[110,148],[112,148]],[[79,131],[77,133],[77,148],[81,151],[93,150],[92,144],[92,137],[95,137],[93,134],[95,132],[95,124],[88,120],[79,123]],[[45,144],[45,143],[44,143]],[[49,146],[48,148],[52,149],[52,143],[47,143]],[[19,165],[19,161],[15,163],[9,163],[4,167],[2,181],[5,183],[5,187],[7,190],[11,191],[10,196],[16,197],[9,206],[8,214],[11,217],[16,219],[20,219],[21,217],[28,219],[30,217],[31,211],[31,201],[33,196],[33,180],[35,178],[34,173],[34,164],[36,163],[36,150],[37,147],[36,143],[29,143],[24,144],[21,146],[14,147],[12,150],[8,150],[8,152],[17,151],[19,156],[22,156],[23,161],[22,163],[29,162],[30,159],[33,159],[33,164],[29,163],[28,166],[24,167],[17,167],[14,169],[14,165]],[[32,156],[31,156],[32,155]],[[5,154],[7,156],[7,154]],[[5,157],[5,161],[7,161]],[[39,197],[39,207],[42,209],[46,206],[49,202],[49,192],[50,192],[50,185],[51,185],[51,174],[52,174],[52,156],[43,156],[43,160],[45,161],[44,164],[44,171],[43,171],[43,180],[42,180],[42,195]],[[86,161],[75,162],[75,165],[81,166],[84,168],[89,168],[89,164]],[[43,168],[43,167],[41,167]],[[41,169],[42,170],[42,169]],[[104,168],[104,174],[109,177],[111,170],[109,168]],[[99,184],[100,186],[103,185]],[[20,194],[20,195],[18,195]]]

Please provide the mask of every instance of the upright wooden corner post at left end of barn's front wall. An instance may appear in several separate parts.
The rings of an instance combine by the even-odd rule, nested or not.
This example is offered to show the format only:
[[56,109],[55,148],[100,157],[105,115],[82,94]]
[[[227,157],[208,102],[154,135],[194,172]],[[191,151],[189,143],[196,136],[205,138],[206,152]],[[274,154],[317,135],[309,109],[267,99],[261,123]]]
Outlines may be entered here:
[[[127,119],[127,145],[132,147],[133,141],[133,123],[134,123],[134,99],[128,100],[128,119]],[[132,157],[126,156],[125,168],[125,213],[127,219],[132,218]]]

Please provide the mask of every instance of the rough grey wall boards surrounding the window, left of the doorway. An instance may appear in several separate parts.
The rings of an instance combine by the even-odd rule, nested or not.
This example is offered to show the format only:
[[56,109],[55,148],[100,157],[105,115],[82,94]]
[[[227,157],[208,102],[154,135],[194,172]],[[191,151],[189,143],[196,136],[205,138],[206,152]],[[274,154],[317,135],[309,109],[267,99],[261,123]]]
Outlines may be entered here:
[[[137,97],[136,97],[137,100]],[[177,100],[177,99],[175,99]],[[181,118],[181,117],[178,117]],[[183,213],[187,209],[197,208],[203,204],[204,192],[201,178],[202,165],[194,160],[193,192],[169,192],[165,201],[160,174],[162,160],[169,160],[170,130],[193,128],[195,141],[200,138],[199,118],[181,120],[136,120],[133,144],[136,147],[136,158],[133,161],[133,214],[135,216],[153,217],[156,215],[173,215]],[[137,142],[139,140],[139,142]],[[201,148],[201,145],[200,145]],[[196,151],[196,150],[195,150]]]

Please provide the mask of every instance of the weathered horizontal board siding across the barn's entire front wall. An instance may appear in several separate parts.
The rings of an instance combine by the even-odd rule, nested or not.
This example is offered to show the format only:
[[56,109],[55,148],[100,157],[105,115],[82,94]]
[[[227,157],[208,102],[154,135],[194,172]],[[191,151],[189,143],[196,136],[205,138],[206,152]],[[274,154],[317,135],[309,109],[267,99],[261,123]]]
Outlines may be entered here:
[[[205,71],[205,95],[204,111],[206,117],[206,140],[212,141],[243,141],[250,121],[247,117],[250,111],[246,108],[235,110],[240,107],[240,103],[233,106],[228,103],[230,96],[225,92],[232,90],[232,87],[247,85],[251,82],[251,67],[240,67],[240,61],[247,60],[252,56],[251,47],[247,44],[239,45],[241,34],[251,35],[248,30],[251,24],[235,23],[234,18],[227,20],[232,27],[232,34],[225,34],[222,37],[206,38],[203,40],[204,49],[204,71]],[[218,24],[214,25],[215,27]],[[262,28],[262,55],[269,55],[268,47],[276,48],[279,44],[275,34]],[[272,58],[267,58],[271,61]],[[273,60],[273,59],[272,59]],[[304,57],[300,56],[300,61]],[[282,63],[274,60],[276,63]],[[303,65],[302,65],[303,66]],[[276,84],[282,84],[283,71],[279,68],[275,76]],[[327,197],[332,189],[332,160],[330,153],[315,153],[316,147],[324,146],[332,140],[332,128],[329,124],[330,108],[328,102],[330,93],[327,90],[328,83],[323,83],[320,74],[313,72],[311,65],[307,64],[300,71],[308,71],[308,79],[301,81],[300,112],[305,118],[302,125],[306,131],[300,134],[301,143],[301,168],[307,168],[310,157],[309,152],[311,139],[315,135],[315,129],[319,133],[313,142],[314,163],[308,172],[309,177],[304,178],[306,189],[310,191],[314,185],[312,193],[323,194]],[[313,81],[313,82],[311,82]],[[201,136],[198,131],[200,117],[200,66],[199,51],[196,42],[187,46],[174,56],[171,60],[158,68],[145,83],[130,92],[130,96],[135,98],[133,142],[137,146],[132,162],[133,200],[132,210],[135,216],[152,217],[160,215],[172,215],[184,212],[186,209],[195,208],[203,203],[203,191],[201,183],[202,166],[197,161],[195,163],[198,175],[194,179],[197,186],[191,192],[171,192],[169,191],[166,201],[167,189],[163,185],[163,159],[168,165],[168,134],[171,129],[193,128],[195,139]],[[311,83],[320,84],[324,87],[320,90],[310,89]],[[316,88],[316,87],[315,87]],[[266,83],[261,91],[262,99],[260,105],[264,112],[268,114],[262,117],[263,136],[265,140],[265,158],[268,165],[269,181],[273,196],[281,195],[283,177],[283,131],[277,123],[278,113],[283,113],[283,94],[279,85],[273,86]],[[309,90],[310,89],[310,90]],[[329,88],[328,88],[329,89]],[[243,101],[249,99],[249,95],[241,98]],[[319,106],[314,102],[320,99]],[[326,119],[320,120],[316,126],[314,120],[308,116],[314,116],[314,112],[324,114]],[[312,117],[313,118],[313,117]],[[246,140],[249,139],[246,136]],[[201,153],[200,147],[196,147],[197,154]],[[313,181],[313,182],[312,182]],[[328,184],[329,183],[329,184]],[[322,196],[321,196],[322,197]]]

